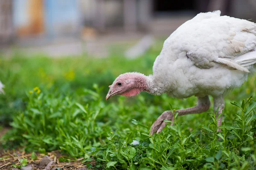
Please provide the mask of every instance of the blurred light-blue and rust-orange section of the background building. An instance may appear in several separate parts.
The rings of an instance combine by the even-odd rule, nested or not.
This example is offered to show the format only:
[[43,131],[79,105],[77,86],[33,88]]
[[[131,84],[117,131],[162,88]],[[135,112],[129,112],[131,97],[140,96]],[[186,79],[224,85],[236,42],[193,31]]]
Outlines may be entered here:
[[54,37],[79,31],[78,0],[13,0],[17,37]]

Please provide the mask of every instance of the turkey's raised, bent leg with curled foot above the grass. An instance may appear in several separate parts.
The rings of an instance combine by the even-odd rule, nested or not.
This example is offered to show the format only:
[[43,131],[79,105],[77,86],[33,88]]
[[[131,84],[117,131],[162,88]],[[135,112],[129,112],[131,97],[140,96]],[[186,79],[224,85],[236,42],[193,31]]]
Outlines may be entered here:
[[[178,112],[179,113],[178,116],[188,115],[193,113],[202,113],[207,111],[210,105],[211,103],[209,101],[208,95],[203,98],[198,97],[197,106],[187,108],[187,109],[176,110],[175,113]],[[150,131],[151,135],[153,135],[154,133],[160,133],[163,130],[163,128],[166,127],[167,122],[164,122],[164,120],[174,121],[174,115],[170,110],[163,112],[163,114],[157,118],[157,120],[152,125],[151,131]]]

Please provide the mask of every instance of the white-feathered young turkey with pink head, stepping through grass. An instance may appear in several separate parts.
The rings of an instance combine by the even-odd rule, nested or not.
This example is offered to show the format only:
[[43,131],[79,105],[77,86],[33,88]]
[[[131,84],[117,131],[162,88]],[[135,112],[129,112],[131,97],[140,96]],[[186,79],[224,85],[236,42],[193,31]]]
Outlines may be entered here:
[[[181,25],[163,44],[153,75],[137,72],[119,75],[109,89],[113,95],[134,96],[141,91],[153,95],[167,93],[175,98],[197,96],[198,105],[180,109],[178,115],[205,112],[213,97],[216,117],[224,110],[224,95],[241,86],[256,63],[256,23],[229,16],[220,11],[200,13]],[[174,121],[165,111],[154,122],[151,135]],[[222,116],[218,119],[221,126]],[[220,129],[218,129],[220,131]]]

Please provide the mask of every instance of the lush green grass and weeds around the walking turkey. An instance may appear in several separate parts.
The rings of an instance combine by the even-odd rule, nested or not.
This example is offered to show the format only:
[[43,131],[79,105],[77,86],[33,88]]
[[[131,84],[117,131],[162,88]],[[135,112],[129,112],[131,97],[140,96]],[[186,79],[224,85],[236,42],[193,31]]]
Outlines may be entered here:
[[[179,100],[142,92],[105,101],[108,85],[119,74],[152,73],[162,42],[157,44],[135,60],[117,54],[106,59],[2,59],[0,80],[6,95],[0,95],[0,121],[13,127],[2,147],[61,150],[69,157],[96,160],[94,169],[256,169],[256,101],[250,98],[255,76],[226,97],[221,133],[215,133],[211,107],[177,117],[174,126],[149,135],[151,124],[170,104],[172,109],[192,107],[195,97]],[[133,140],[139,144],[132,145]]]

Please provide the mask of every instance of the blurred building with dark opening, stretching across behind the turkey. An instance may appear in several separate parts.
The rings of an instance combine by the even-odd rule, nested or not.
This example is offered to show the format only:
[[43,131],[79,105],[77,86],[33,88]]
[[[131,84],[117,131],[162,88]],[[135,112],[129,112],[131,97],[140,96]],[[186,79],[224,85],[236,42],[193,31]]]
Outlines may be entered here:
[[90,37],[97,33],[172,33],[198,12],[256,21],[255,0],[0,0],[0,43]]

